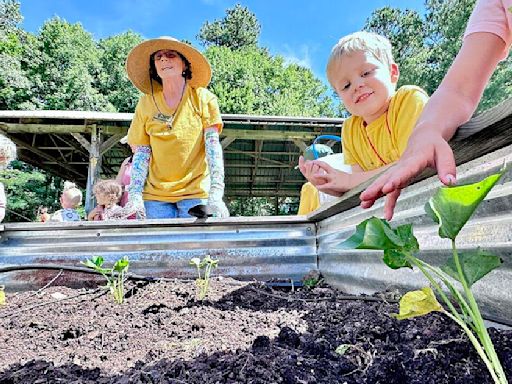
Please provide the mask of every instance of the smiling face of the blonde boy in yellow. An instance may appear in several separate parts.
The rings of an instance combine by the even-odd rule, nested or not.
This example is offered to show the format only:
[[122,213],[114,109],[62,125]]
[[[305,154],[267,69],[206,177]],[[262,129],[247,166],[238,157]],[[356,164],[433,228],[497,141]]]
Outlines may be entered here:
[[388,67],[363,51],[343,55],[334,63],[332,74],[336,93],[347,110],[367,124],[387,111],[399,77],[398,65]]

